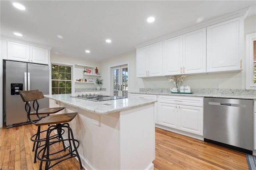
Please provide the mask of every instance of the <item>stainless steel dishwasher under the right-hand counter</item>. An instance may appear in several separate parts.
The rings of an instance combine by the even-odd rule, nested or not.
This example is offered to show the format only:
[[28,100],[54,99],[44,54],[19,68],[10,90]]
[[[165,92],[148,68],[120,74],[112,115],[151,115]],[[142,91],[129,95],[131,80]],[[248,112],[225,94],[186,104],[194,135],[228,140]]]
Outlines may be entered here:
[[252,154],[253,100],[204,98],[204,141]]

